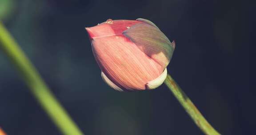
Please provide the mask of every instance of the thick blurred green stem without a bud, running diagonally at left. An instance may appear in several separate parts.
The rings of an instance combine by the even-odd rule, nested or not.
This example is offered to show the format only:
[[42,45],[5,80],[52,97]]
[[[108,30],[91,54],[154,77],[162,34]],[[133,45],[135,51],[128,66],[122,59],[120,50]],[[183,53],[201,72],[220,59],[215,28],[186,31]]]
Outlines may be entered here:
[[47,112],[48,116],[56,124],[63,135],[83,135],[76,123],[69,117],[56,97],[50,91],[44,80],[40,77],[36,68],[28,60],[19,45],[12,38],[4,25],[0,22],[0,49],[20,72],[21,77],[27,84],[32,94]]

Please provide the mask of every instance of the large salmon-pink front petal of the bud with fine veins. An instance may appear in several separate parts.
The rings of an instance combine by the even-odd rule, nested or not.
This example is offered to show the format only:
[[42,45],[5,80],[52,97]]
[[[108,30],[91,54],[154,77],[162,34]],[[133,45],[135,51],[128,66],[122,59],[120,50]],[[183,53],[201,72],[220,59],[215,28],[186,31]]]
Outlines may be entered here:
[[92,48],[101,70],[122,89],[144,90],[147,82],[164,71],[124,36],[94,38]]

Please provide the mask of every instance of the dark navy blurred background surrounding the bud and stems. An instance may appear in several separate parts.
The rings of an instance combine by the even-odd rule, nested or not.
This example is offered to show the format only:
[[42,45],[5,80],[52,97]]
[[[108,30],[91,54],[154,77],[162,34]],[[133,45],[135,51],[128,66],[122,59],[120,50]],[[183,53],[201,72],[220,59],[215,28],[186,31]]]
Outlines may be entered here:
[[[85,135],[202,135],[165,85],[122,93],[100,77],[84,27],[154,22],[176,50],[168,66],[223,135],[255,133],[255,5],[246,0],[0,0],[0,20]],[[0,127],[60,135],[0,50]]]

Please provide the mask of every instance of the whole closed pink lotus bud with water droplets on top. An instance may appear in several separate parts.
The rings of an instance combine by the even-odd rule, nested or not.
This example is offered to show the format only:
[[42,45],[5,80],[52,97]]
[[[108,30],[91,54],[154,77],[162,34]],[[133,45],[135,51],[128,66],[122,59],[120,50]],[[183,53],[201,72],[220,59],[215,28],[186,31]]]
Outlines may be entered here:
[[154,89],[167,76],[175,43],[149,20],[111,20],[86,28],[104,81],[118,91]]

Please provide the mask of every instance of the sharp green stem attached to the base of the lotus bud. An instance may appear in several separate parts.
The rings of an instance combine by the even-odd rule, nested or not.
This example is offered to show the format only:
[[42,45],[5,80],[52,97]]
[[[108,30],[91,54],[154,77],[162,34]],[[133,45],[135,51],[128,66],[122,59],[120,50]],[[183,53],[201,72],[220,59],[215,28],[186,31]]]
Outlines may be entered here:
[[204,132],[205,135],[220,135],[204,118],[204,116],[198,111],[196,106],[188,98],[188,96],[182,91],[178,84],[172,79],[171,75],[167,75],[164,83],[172,91],[173,95],[178,99],[182,107],[187,111],[188,115],[196,123],[196,125]]

